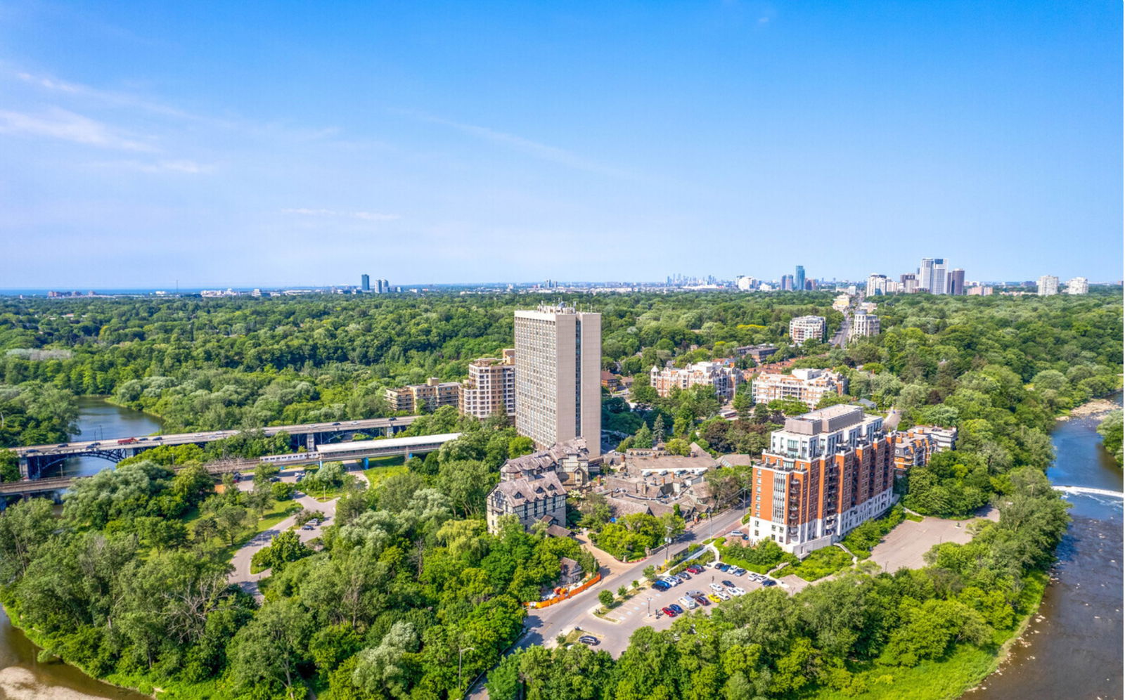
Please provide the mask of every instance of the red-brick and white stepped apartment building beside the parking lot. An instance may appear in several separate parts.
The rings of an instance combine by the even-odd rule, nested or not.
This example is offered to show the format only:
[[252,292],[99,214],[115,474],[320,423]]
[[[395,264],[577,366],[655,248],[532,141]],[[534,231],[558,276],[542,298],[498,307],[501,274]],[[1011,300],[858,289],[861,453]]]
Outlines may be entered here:
[[883,419],[836,405],[785,420],[752,475],[747,529],[804,556],[894,502],[893,443]]

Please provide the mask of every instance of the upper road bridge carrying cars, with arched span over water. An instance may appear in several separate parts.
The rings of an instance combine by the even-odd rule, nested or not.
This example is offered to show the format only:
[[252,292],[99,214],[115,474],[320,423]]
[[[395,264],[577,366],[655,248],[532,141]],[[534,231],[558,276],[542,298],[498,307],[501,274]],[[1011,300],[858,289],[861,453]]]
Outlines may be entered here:
[[[262,428],[267,437],[279,432],[290,436],[292,447],[304,447],[313,452],[320,446],[332,442],[349,441],[351,437],[361,433],[368,437],[393,436],[417,420],[416,415],[402,418],[376,418],[361,421],[336,421],[333,423],[303,423],[298,425],[271,425]],[[38,479],[54,466],[71,457],[98,457],[114,464],[133,457],[144,450],[162,445],[198,445],[223,440],[238,434],[237,430],[212,430],[202,432],[181,432],[166,436],[136,436],[117,440],[90,440],[84,442],[62,442],[60,445],[32,445],[15,448],[19,456],[19,473],[25,478]]]

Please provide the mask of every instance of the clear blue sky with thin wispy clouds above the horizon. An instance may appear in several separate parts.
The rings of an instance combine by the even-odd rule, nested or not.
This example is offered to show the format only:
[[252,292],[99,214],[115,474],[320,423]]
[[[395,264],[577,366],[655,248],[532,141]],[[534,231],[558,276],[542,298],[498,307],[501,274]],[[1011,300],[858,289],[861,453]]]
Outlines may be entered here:
[[0,288],[1119,279],[1120,2],[0,5]]

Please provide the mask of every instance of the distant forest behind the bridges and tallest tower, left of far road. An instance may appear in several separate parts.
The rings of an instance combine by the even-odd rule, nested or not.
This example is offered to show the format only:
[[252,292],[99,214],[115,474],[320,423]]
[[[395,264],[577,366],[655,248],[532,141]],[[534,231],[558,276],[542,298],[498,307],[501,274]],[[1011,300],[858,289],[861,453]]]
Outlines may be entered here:
[[[512,344],[512,312],[536,303],[518,295],[0,298],[0,406],[24,412],[16,395],[38,382],[110,395],[160,415],[169,432],[390,415],[386,387],[464,379],[469,361]],[[830,304],[828,293],[752,304],[730,295],[606,297],[597,308],[603,365],[632,375],[739,344],[784,344],[792,316],[818,313],[838,326]],[[24,424],[0,430],[0,447],[58,437],[34,419],[22,434]]]

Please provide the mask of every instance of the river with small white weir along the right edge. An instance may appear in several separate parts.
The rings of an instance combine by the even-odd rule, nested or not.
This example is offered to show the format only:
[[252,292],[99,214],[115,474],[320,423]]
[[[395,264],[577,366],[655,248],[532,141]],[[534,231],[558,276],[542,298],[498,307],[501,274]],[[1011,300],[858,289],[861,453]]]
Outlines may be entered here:
[[[1120,394],[1114,401],[1120,405]],[[1122,491],[1122,469],[1096,431],[1099,420],[1061,421],[1052,432],[1052,484]],[[1000,670],[965,698],[1122,699],[1122,500],[1066,500],[1073,522],[1040,613]]]

